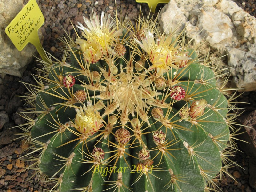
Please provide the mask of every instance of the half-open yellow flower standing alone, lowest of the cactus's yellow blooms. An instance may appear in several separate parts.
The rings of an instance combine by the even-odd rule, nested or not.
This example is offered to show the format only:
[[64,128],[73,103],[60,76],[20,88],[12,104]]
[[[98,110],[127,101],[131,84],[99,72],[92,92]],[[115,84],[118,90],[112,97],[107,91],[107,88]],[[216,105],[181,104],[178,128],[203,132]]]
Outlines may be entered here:
[[87,106],[80,106],[76,109],[76,119],[74,127],[81,133],[91,136],[94,135],[101,127],[102,118],[100,113],[93,108],[91,102],[87,102]]

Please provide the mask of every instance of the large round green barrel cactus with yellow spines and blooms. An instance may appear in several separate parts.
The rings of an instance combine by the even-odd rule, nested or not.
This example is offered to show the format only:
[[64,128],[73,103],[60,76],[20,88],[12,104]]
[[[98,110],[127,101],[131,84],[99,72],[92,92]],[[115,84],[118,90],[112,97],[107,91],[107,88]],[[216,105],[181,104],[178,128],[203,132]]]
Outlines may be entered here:
[[41,61],[20,127],[52,191],[218,190],[236,150],[232,98],[207,54],[156,21],[84,17],[62,60]]

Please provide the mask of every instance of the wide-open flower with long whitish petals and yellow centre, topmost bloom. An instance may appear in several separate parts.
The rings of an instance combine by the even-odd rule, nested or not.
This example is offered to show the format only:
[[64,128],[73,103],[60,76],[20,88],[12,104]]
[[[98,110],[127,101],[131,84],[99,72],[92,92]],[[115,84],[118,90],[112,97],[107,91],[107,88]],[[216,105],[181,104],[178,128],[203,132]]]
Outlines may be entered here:
[[98,15],[90,15],[90,19],[84,17],[86,27],[78,22],[77,27],[83,31],[82,35],[88,42],[97,42],[103,50],[108,51],[113,41],[122,35],[122,29],[116,30],[115,22],[110,15],[105,16],[102,12]]

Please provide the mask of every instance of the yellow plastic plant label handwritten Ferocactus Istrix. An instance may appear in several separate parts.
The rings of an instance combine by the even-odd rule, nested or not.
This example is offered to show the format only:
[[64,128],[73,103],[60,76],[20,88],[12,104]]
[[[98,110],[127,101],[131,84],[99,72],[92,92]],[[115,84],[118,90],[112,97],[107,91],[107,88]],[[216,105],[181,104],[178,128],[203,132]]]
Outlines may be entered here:
[[30,42],[46,61],[47,57],[38,37],[38,29],[43,23],[44,16],[36,0],[30,0],[5,28],[5,33],[19,51]]

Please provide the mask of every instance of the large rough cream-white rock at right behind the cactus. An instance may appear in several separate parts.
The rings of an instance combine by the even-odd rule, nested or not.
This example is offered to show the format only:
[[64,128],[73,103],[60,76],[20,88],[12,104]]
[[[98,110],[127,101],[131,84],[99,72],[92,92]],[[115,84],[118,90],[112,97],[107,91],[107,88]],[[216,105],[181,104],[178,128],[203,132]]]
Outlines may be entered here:
[[232,68],[233,84],[245,91],[256,90],[256,19],[235,2],[170,0],[159,22],[167,32],[185,28],[188,39],[210,46],[211,60],[229,54],[225,67]]

